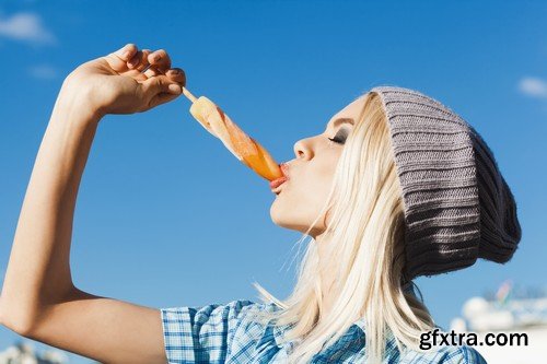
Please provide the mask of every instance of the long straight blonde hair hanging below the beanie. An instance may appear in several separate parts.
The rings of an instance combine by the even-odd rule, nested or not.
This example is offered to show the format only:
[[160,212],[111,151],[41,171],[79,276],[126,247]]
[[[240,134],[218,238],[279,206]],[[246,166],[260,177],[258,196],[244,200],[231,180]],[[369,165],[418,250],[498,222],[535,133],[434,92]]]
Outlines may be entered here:
[[[260,300],[282,308],[259,312],[259,317],[275,326],[293,325],[283,336],[283,342],[300,341],[290,352],[289,363],[310,362],[360,318],[364,318],[368,363],[381,362],[388,330],[399,351],[404,347],[421,351],[417,342],[420,333],[434,327],[426,306],[403,290],[407,283],[404,201],[389,126],[379,95],[366,93],[362,97],[364,107],[346,140],[325,206],[299,240],[325,211],[334,210],[322,244],[336,262],[333,274],[337,280],[329,292],[322,292],[317,247],[311,238],[296,284],[286,301],[253,283]],[[328,316],[322,315],[326,295],[333,300]]]

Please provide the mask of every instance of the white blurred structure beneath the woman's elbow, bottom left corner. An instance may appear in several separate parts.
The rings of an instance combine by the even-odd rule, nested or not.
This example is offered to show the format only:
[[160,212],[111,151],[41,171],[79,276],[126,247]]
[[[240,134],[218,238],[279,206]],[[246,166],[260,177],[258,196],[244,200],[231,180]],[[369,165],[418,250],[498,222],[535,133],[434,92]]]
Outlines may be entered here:
[[42,354],[28,343],[19,343],[0,353],[0,364],[67,364],[68,357],[60,351],[47,350]]

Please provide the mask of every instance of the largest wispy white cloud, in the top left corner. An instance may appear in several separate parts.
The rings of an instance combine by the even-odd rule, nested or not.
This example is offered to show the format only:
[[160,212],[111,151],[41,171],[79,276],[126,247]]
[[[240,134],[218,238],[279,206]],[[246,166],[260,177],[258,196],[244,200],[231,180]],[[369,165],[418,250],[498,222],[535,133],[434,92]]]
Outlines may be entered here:
[[11,17],[0,19],[0,36],[32,43],[56,43],[55,35],[42,24],[42,19],[34,13],[18,13]]

